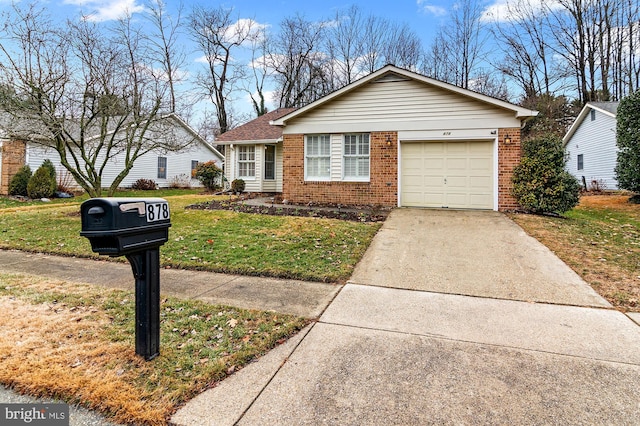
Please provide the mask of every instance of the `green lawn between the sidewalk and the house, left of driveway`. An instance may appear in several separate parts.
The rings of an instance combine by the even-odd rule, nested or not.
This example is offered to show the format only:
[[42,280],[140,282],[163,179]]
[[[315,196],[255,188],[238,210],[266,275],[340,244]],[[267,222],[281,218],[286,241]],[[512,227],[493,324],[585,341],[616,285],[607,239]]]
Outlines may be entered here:
[[[169,201],[172,226],[160,251],[163,266],[343,282],[380,227],[335,219],[191,210],[185,207],[212,196],[172,194],[142,194]],[[88,240],[79,235],[80,201],[0,209],[0,248],[95,257]]]

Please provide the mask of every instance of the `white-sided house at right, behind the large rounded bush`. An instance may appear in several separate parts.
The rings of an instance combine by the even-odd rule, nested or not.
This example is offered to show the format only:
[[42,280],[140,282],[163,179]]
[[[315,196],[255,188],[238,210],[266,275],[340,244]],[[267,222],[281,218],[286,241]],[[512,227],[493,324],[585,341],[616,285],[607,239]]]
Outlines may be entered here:
[[615,167],[618,102],[589,102],[562,139],[566,169],[587,189],[618,189]]

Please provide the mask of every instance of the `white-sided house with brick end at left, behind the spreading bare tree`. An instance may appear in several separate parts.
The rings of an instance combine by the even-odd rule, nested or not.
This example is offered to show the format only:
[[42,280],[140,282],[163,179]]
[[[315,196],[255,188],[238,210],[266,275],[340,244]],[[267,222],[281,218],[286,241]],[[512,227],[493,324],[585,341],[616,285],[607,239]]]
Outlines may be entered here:
[[[192,178],[191,172],[198,165],[207,161],[215,161],[222,167],[224,157],[207,141],[202,139],[187,123],[175,114],[164,118],[170,123],[172,133],[181,140],[193,139],[194,142],[186,149],[178,152],[151,151],[138,158],[133,169],[120,184],[130,187],[138,179],[152,179],[159,187],[168,187],[174,182],[189,183],[191,186],[201,186],[200,182]],[[27,164],[31,170],[42,165],[46,159],[51,160],[58,180],[67,177],[67,183],[72,188],[79,188],[70,177],[67,170],[60,164],[60,158],[55,149],[34,142],[0,139],[0,194],[7,194],[11,177],[23,165]],[[102,186],[109,187],[123,168],[124,154],[117,155],[109,162],[102,175]]]

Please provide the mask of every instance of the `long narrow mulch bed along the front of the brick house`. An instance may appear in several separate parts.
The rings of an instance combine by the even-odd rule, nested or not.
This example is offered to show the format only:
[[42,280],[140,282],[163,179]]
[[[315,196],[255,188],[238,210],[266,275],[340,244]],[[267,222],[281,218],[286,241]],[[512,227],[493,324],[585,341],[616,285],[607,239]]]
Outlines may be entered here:
[[243,201],[212,200],[206,203],[192,204],[189,209],[195,210],[230,210],[240,213],[267,214],[272,216],[319,217],[329,219],[352,220],[356,222],[384,222],[389,214],[385,208],[371,206],[268,206],[249,205]]

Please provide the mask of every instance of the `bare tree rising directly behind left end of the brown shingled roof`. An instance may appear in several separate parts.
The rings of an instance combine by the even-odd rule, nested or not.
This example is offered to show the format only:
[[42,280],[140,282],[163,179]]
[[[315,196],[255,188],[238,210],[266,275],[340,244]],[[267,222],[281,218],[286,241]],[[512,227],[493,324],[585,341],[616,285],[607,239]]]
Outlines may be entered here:
[[231,128],[227,103],[244,78],[245,69],[233,53],[255,37],[253,21],[234,19],[232,14],[233,9],[222,6],[196,6],[189,17],[189,31],[204,54],[205,71],[197,76],[196,84],[215,105],[220,133]]

